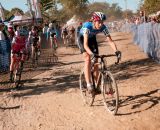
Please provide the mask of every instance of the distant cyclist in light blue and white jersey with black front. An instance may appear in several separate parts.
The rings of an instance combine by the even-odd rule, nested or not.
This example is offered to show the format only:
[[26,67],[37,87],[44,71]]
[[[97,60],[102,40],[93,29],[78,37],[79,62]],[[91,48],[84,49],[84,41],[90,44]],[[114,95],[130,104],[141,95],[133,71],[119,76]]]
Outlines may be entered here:
[[47,30],[47,39],[50,39],[51,48],[56,49],[58,47],[57,45],[57,32],[54,28],[53,23],[49,24],[49,28]]

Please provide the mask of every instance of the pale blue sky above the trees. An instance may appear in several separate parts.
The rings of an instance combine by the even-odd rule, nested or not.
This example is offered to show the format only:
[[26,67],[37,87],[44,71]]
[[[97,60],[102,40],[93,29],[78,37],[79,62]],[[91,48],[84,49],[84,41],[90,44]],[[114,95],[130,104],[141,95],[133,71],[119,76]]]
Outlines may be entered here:
[[[122,10],[126,9],[125,0],[89,0],[90,2],[108,2],[108,3],[118,3]],[[133,10],[136,12],[138,9],[139,1],[140,0],[126,0],[127,1],[127,9]],[[7,9],[11,10],[12,8],[18,7],[22,9],[24,12],[28,10],[26,5],[27,0],[0,0],[2,6]]]

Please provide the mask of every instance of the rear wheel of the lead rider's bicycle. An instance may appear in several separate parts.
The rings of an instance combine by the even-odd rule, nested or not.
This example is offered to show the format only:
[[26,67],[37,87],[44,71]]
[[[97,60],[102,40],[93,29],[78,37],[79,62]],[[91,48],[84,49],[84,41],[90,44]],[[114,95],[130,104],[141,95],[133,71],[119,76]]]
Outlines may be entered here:
[[95,94],[89,93],[89,91],[87,89],[87,83],[85,81],[84,71],[82,71],[80,73],[79,86],[80,86],[81,95],[82,95],[82,98],[83,98],[85,104],[92,106],[92,104],[94,102]]

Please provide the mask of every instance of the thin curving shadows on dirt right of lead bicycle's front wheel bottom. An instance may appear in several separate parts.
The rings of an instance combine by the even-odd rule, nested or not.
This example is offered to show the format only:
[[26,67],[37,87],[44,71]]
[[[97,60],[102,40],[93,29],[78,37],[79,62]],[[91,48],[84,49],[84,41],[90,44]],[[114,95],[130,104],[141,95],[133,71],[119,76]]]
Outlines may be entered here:
[[158,95],[160,89],[156,89],[144,94],[138,94],[135,96],[121,96],[120,109],[129,107],[128,111],[118,113],[118,115],[131,115],[146,111],[156,106],[160,102],[160,96]]

